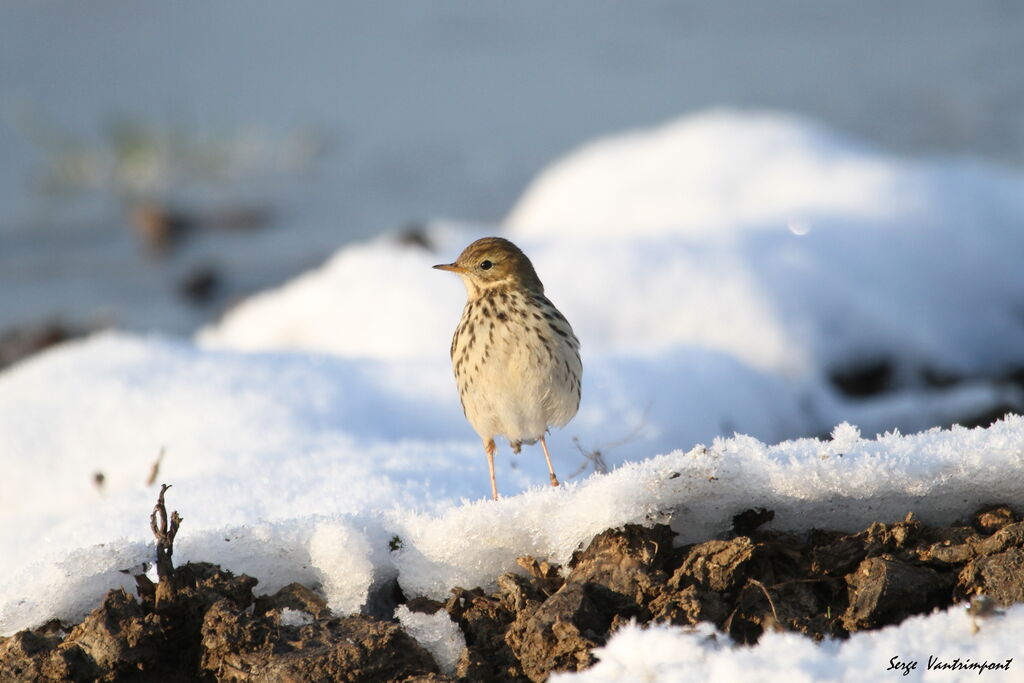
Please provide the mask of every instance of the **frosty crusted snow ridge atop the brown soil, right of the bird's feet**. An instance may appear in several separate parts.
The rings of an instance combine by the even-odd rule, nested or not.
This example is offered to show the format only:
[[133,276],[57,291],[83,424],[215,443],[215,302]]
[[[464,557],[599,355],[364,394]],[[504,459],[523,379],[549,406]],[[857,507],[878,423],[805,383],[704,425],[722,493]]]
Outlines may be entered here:
[[561,490],[531,489],[497,506],[477,502],[441,515],[412,515],[395,554],[399,582],[417,595],[490,584],[518,555],[565,563],[605,528],[672,518],[680,544],[727,531],[751,507],[775,511],[772,526],[854,531],[913,512],[953,521],[991,501],[1024,502],[1024,418],[990,429],[932,430],[860,438],[841,425],[829,441],[769,446],[746,436],[627,463]]

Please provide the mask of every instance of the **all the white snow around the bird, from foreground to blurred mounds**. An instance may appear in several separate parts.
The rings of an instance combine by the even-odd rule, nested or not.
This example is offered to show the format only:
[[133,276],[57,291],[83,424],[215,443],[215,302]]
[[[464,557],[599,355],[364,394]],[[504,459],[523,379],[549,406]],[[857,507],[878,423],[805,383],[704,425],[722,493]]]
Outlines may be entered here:
[[[436,223],[433,251],[345,248],[196,341],[65,344],[0,373],[0,633],[81,617],[104,590],[131,589],[122,569],[153,558],[160,482],[184,518],[176,562],[249,573],[260,592],[312,586],[338,613],[395,579],[435,599],[493,587],[521,571],[517,556],[565,562],[630,522],[672,519],[686,543],[752,506],[795,530],[909,511],[943,523],[993,501],[1024,509],[1024,418],[929,429],[1021,404],[985,376],[1024,365],[1022,224],[1012,172],[896,160],[799,119],[713,112],[570,156],[504,227]],[[492,502],[447,358],[464,293],[429,266],[496,231],[534,259],[583,341],[585,373],[580,415],[549,440],[566,485],[547,485],[536,449],[513,458],[502,444],[505,498]],[[896,366],[890,393],[852,400],[826,381],[837,364],[879,355]],[[974,379],[940,389],[923,369]],[[811,434],[825,436],[799,438]],[[611,471],[594,474],[573,437]],[[900,629],[922,653],[933,641],[913,629],[952,639],[957,618]],[[421,627],[451,666],[454,632],[410,628]],[[1009,655],[986,637],[963,651]],[[770,636],[733,649],[628,630],[592,675],[628,678],[615,663],[648,666],[640,653],[663,638],[700,653],[691,664],[711,679],[785,652],[795,672],[830,661],[856,680],[857,657],[843,653],[893,642]],[[663,654],[649,666],[691,666]]]

